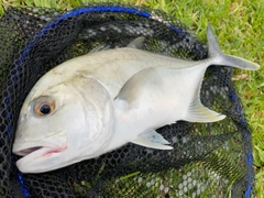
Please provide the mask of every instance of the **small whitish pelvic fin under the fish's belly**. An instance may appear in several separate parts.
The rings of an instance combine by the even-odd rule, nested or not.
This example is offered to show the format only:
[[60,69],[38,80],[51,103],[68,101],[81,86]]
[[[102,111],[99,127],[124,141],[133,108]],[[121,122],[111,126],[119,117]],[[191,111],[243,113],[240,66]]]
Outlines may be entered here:
[[169,144],[169,142],[166,141],[155,130],[150,130],[138,135],[138,138],[131,142],[134,144],[139,144],[145,147],[152,147],[156,150],[173,150],[172,146],[165,145],[165,144]]

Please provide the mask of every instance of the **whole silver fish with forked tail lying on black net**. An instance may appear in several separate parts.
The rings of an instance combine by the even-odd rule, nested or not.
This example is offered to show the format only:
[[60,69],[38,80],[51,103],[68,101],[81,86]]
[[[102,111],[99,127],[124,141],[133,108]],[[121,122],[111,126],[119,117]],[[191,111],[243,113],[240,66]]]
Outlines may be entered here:
[[186,61],[142,50],[144,37],[66,61],[34,85],[21,108],[12,152],[22,173],[45,173],[99,157],[128,143],[173,150],[156,129],[179,120],[218,122],[200,88],[210,65],[256,70],[220,51],[207,29],[208,57]]

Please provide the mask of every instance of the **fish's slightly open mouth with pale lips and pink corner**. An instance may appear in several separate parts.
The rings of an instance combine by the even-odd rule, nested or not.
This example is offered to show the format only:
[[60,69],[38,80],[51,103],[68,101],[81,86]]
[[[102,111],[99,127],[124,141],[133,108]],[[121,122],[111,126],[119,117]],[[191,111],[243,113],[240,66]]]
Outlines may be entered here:
[[22,156],[15,162],[20,172],[43,173],[57,162],[61,163],[67,148],[67,134],[59,133],[42,140],[14,140],[12,153]]

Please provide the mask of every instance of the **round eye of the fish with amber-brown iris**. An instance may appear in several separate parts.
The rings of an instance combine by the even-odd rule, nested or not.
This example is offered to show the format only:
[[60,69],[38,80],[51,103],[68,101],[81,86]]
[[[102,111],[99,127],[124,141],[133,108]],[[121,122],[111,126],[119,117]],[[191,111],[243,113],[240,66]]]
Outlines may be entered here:
[[45,117],[55,110],[55,101],[50,97],[42,97],[34,102],[34,112],[38,117]]

